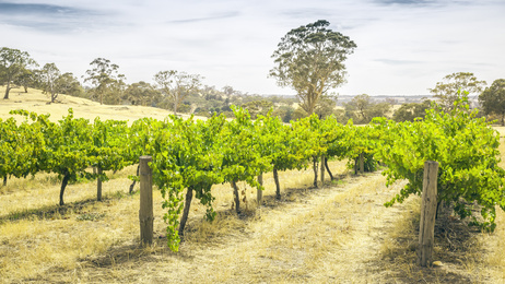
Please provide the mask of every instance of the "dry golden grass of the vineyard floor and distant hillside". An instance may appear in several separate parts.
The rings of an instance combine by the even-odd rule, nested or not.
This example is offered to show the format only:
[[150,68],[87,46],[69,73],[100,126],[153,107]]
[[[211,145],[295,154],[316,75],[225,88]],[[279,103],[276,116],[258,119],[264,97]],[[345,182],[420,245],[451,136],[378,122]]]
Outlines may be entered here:
[[[73,97],[63,97],[60,104],[46,102],[36,91],[13,92],[10,100],[0,102],[0,117],[24,108],[59,119],[69,107],[77,117],[130,122],[169,114]],[[503,144],[501,151],[505,153]],[[70,185],[62,208],[57,205],[55,175],[9,179],[0,188],[0,282],[505,283],[502,211],[493,234],[469,228],[455,217],[448,217],[445,226],[437,224],[434,259],[442,265],[420,269],[415,264],[420,199],[385,208],[402,182],[386,188],[380,173],[355,176],[345,162],[332,161],[330,168],[338,179],[327,180],[322,189],[312,188],[312,169],[281,173],[280,201],[273,198],[271,174],[266,175],[260,208],[256,189],[240,182],[247,206],[239,215],[232,210],[230,185],[213,187],[216,220],[205,222],[204,206],[193,202],[179,252],[165,245],[157,190],[155,244],[139,245],[139,194],[128,194],[127,178],[134,166],[104,184],[103,202],[94,200],[94,182]]]

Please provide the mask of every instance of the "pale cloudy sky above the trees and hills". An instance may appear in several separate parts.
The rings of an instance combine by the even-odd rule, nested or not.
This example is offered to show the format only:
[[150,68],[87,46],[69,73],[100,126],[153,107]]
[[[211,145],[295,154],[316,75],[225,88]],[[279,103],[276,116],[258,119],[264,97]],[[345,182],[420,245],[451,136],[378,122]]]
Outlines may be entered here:
[[294,95],[268,73],[281,38],[318,20],[349,36],[340,95],[428,95],[455,72],[505,78],[504,0],[0,0],[0,47],[82,80],[95,58],[127,83],[177,70],[249,94]]

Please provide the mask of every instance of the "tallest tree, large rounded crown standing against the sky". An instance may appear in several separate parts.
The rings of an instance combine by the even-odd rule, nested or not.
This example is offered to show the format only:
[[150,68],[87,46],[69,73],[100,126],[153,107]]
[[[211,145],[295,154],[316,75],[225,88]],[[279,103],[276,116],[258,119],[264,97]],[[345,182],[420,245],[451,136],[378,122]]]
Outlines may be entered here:
[[345,82],[343,62],[356,48],[348,36],[327,28],[329,25],[319,20],[292,29],[272,55],[275,67],[270,76],[277,78],[280,86],[293,87],[308,115],[329,90]]

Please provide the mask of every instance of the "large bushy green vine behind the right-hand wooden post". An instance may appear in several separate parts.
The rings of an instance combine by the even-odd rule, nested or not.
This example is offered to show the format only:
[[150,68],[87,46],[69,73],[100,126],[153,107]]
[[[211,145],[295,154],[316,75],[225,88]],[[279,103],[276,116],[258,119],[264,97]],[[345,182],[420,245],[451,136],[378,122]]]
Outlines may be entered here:
[[454,202],[461,217],[470,216],[471,204],[477,202],[490,228],[494,228],[495,205],[505,210],[505,171],[497,165],[500,135],[484,118],[477,118],[477,111],[469,111],[466,95],[456,99],[450,113],[436,107],[427,110],[424,120],[380,120],[376,128],[383,135],[377,156],[388,166],[384,171],[387,184],[409,180],[386,205],[421,194],[424,162],[436,161],[438,202]]

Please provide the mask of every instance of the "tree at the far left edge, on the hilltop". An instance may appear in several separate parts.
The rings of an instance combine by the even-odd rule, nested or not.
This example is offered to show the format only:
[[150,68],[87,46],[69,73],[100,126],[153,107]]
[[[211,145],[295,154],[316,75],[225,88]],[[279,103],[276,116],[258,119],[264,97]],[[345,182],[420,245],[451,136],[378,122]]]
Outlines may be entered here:
[[0,49],[0,80],[5,84],[5,95],[3,99],[9,99],[9,92],[13,88],[20,75],[22,75],[30,66],[35,66],[28,52],[19,49],[2,47]]

